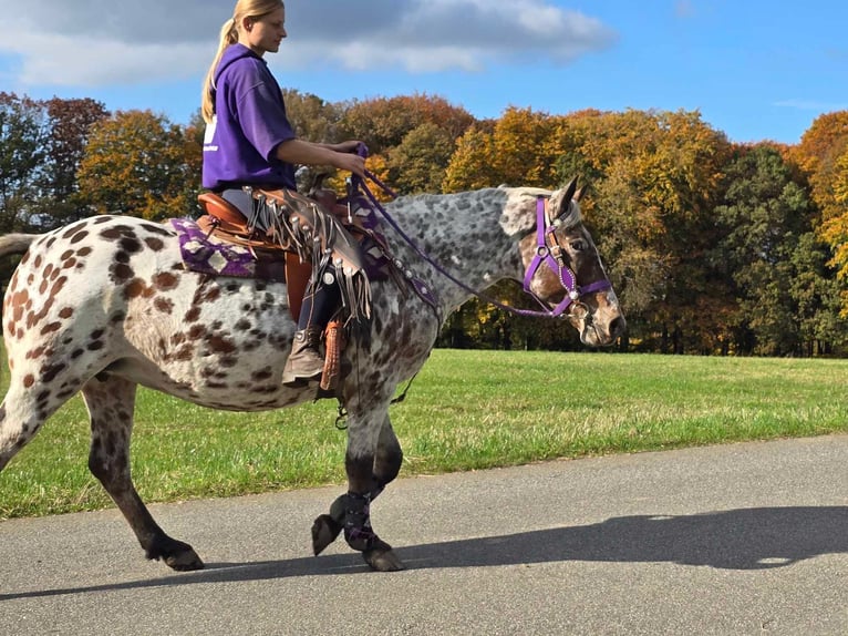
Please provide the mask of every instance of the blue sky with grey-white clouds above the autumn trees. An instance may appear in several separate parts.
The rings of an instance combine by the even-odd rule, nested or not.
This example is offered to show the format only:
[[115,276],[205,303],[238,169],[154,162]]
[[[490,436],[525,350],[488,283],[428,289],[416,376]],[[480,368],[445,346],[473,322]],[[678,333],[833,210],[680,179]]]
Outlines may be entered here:
[[[234,0],[0,0],[0,91],[185,123]],[[289,0],[268,61],[327,101],[699,110],[737,142],[797,143],[848,110],[844,0]]]

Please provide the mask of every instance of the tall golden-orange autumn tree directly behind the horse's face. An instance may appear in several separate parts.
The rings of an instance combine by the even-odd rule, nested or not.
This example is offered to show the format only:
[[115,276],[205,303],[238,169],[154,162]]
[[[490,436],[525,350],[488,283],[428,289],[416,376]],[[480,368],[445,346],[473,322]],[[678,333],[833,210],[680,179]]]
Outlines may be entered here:
[[579,113],[562,131],[576,141],[561,165],[586,165],[598,179],[585,213],[631,337],[674,352],[711,348],[715,336],[705,335],[718,332],[722,311],[703,259],[715,240],[725,135],[684,111]]

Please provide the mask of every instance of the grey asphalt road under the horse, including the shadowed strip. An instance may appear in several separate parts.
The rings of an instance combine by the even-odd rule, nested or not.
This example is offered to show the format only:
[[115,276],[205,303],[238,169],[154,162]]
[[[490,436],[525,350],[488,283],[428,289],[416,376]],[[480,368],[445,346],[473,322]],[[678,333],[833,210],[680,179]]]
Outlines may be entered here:
[[185,574],[115,511],[2,522],[0,634],[848,634],[848,435],[400,480],[392,574],[311,556],[339,492],[152,506]]

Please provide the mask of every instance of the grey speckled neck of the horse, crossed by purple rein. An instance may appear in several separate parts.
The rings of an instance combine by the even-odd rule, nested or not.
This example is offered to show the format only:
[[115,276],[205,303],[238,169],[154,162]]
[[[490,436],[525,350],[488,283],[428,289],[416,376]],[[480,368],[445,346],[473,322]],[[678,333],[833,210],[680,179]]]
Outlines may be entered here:
[[[483,291],[503,278],[519,275],[516,239],[500,224],[506,198],[506,193],[498,189],[402,197],[387,211],[436,266]],[[445,315],[472,296],[391,234],[395,255],[403,255],[402,259],[434,286]]]

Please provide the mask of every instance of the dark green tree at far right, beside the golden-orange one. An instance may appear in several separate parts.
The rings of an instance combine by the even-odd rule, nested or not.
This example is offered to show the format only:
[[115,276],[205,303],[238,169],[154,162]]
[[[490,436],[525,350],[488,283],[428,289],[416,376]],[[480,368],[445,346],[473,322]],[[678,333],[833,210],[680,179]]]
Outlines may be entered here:
[[726,168],[725,236],[712,257],[733,281],[735,349],[769,356],[823,352],[845,338],[813,204],[790,166],[768,145],[745,148]]

